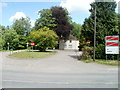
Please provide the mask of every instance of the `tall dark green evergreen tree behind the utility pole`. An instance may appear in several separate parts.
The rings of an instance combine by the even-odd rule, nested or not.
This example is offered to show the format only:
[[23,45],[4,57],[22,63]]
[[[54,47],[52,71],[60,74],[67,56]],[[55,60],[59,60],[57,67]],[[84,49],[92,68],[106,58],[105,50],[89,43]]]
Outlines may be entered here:
[[98,44],[104,44],[105,36],[117,35],[117,14],[115,13],[116,2],[94,2],[91,5],[90,17],[85,19],[82,35],[86,40],[93,42],[94,17],[96,8],[96,40]]

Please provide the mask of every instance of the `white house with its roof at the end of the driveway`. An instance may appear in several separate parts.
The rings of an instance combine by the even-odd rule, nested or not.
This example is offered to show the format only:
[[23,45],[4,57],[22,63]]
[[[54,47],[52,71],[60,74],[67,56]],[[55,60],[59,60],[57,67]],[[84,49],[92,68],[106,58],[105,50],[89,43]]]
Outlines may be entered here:
[[77,40],[73,36],[71,36],[67,41],[61,40],[59,42],[60,50],[76,50],[76,49],[78,50],[79,49],[78,46],[79,46],[79,40]]

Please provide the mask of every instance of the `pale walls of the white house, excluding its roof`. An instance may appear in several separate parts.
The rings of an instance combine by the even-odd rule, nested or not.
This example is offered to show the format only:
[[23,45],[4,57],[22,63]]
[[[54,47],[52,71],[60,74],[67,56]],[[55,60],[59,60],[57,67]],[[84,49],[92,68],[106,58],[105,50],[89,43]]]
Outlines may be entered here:
[[67,40],[66,42],[60,41],[59,49],[79,49],[79,41],[78,40]]

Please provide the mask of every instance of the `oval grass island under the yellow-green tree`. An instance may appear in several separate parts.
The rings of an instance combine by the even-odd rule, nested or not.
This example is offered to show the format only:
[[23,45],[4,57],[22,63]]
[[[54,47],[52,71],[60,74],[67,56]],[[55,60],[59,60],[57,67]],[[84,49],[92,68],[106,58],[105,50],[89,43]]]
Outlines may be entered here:
[[32,59],[32,58],[43,58],[47,57],[50,55],[53,55],[57,53],[56,51],[47,51],[47,52],[38,52],[38,51],[26,51],[26,52],[18,52],[18,53],[13,53],[12,55],[9,55],[9,57],[12,58],[20,58],[20,59]]

